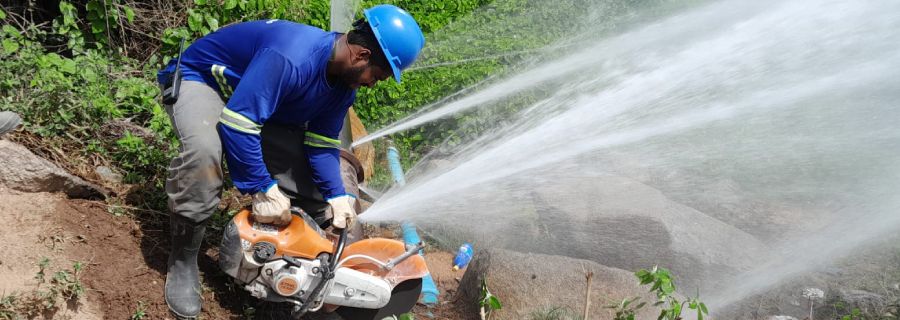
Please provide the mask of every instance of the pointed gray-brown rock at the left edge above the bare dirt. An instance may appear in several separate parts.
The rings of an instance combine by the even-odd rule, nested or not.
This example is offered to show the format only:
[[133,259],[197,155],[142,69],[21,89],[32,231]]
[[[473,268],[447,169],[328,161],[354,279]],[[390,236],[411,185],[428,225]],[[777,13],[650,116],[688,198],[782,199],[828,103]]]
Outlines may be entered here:
[[103,197],[97,186],[6,140],[0,140],[0,187],[24,192],[63,192],[73,198]]

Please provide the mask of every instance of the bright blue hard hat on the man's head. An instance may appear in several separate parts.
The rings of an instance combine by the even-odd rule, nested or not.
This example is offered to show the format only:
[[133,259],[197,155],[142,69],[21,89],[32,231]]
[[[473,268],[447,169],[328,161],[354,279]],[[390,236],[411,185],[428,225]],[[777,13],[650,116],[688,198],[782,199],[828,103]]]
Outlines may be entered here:
[[400,71],[411,66],[425,46],[422,29],[409,12],[393,5],[377,5],[363,13],[400,83]]

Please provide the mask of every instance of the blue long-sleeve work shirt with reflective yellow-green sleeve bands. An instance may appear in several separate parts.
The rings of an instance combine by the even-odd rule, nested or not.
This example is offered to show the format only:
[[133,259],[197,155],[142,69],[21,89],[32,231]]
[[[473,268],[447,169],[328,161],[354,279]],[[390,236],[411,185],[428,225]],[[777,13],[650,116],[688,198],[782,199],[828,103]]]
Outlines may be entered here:
[[[204,82],[227,100],[219,136],[235,187],[265,191],[275,181],[262,159],[266,123],[305,126],[313,181],[328,199],[345,194],[338,134],[356,96],[325,78],[337,33],[282,20],[221,28],[182,53],[182,79]],[[162,83],[174,61],[159,72]]]

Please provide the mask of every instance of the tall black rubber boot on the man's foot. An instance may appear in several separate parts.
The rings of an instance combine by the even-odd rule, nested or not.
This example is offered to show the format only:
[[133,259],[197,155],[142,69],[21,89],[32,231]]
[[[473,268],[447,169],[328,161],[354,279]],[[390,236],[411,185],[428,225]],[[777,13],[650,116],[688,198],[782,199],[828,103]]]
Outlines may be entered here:
[[200,270],[197,254],[203,242],[206,222],[196,223],[172,215],[172,252],[166,273],[166,304],[179,319],[196,319],[200,314]]

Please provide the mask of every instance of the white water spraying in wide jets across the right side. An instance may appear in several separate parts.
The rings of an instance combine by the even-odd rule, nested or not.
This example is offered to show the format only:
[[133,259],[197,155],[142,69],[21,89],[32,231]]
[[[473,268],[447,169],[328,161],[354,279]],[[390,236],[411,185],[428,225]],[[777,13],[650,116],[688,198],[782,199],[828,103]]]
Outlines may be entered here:
[[900,230],[897,12],[891,0],[725,1],[584,41],[373,134],[553,89],[363,218],[667,264],[711,305],[740,301]]

